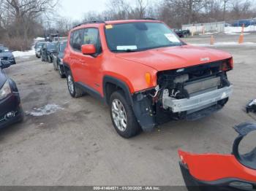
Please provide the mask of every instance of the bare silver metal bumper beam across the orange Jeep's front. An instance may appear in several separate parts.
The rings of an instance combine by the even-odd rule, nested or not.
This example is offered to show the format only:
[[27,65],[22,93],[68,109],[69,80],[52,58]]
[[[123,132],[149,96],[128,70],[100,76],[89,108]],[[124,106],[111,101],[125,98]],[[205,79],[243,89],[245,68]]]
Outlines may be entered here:
[[208,93],[195,95],[191,98],[174,99],[168,96],[164,97],[162,102],[163,105],[168,106],[173,113],[187,112],[193,109],[203,109],[204,106],[207,107],[211,104],[217,103],[217,101],[230,97],[232,93],[233,86],[230,85],[229,87],[223,87]]

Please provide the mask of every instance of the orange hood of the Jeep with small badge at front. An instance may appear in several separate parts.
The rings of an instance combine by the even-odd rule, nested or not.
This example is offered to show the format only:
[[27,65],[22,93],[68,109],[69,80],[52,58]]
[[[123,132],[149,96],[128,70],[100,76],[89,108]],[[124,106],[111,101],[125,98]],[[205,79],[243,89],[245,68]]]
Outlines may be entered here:
[[157,71],[165,71],[225,60],[232,56],[220,50],[184,45],[142,52],[120,53],[116,54],[116,57],[150,66]]

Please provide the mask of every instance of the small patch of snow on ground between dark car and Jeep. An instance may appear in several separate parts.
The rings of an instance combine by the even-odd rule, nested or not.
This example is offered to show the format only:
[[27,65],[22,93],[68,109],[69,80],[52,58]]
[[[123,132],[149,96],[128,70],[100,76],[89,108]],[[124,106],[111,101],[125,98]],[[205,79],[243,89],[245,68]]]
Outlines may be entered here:
[[29,114],[34,116],[34,117],[41,117],[44,115],[50,115],[50,114],[54,114],[59,110],[63,110],[64,108],[62,108],[59,105],[56,104],[47,104],[46,106],[42,106],[39,108],[34,108],[32,112],[30,112]]

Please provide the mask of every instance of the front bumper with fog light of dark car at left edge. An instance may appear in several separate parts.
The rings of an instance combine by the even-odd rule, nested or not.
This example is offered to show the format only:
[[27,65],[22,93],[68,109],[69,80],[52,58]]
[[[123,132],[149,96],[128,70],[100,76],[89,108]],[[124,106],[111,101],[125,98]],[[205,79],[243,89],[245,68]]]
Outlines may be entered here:
[[[8,118],[8,113],[12,113],[13,116]],[[20,106],[20,96],[18,93],[13,93],[0,101],[0,128],[5,128],[22,120],[23,109]]]

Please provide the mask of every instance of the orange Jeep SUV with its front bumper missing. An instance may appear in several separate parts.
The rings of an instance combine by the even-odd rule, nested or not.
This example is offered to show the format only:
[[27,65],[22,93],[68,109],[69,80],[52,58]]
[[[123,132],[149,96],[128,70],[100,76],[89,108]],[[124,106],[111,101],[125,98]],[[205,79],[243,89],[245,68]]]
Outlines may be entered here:
[[217,112],[232,93],[229,53],[185,44],[157,20],[75,26],[63,61],[72,97],[89,93],[108,104],[125,138]]

